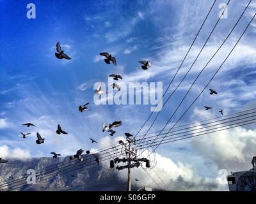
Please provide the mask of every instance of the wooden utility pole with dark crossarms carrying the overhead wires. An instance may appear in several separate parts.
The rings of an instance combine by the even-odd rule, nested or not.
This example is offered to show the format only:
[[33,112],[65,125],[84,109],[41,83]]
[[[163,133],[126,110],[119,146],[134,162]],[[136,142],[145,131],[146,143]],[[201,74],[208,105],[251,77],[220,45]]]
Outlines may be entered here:
[[[127,191],[131,191],[131,168],[134,167],[139,167],[140,166],[140,162],[145,162],[146,163],[146,167],[149,168],[150,167],[150,162],[148,159],[146,158],[141,158],[141,159],[137,159],[137,150],[131,149],[131,143],[133,143],[135,145],[136,141],[135,139],[131,139],[129,137],[126,138],[127,143],[128,143],[128,147],[127,147],[127,143],[125,144],[122,140],[120,140],[118,143],[124,145],[124,151],[126,154],[126,158],[124,157],[123,159],[119,159],[118,157],[115,158],[114,160],[110,161],[110,168],[114,168],[115,167],[115,163],[127,163],[127,165],[125,166],[116,166],[117,170],[124,170],[125,168],[127,168],[128,170],[128,181],[127,181]],[[134,162],[134,163],[132,163]]]

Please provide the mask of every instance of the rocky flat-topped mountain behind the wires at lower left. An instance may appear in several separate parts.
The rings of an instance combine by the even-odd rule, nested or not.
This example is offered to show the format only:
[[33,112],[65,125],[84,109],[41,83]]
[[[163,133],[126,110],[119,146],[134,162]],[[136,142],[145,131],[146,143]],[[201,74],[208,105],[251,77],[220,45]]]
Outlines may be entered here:
[[[95,162],[95,156],[83,156],[84,161],[70,163],[69,157],[40,157],[26,161],[9,160],[0,163],[0,189],[9,188],[14,191],[125,191],[127,181],[122,181],[118,170],[105,168]],[[87,159],[87,161],[86,161]],[[91,166],[86,166],[91,161]],[[61,166],[62,164],[62,166]],[[72,164],[72,166],[71,166]],[[72,168],[72,169],[71,169]],[[76,170],[76,168],[80,168]],[[27,170],[36,172],[36,184],[26,184]],[[53,170],[58,171],[53,171]],[[38,173],[44,170],[42,173]],[[70,171],[72,170],[72,171]],[[66,171],[70,171],[67,172]],[[57,173],[58,172],[58,173]],[[56,174],[57,173],[57,174]],[[62,174],[61,174],[62,173]],[[24,177],[26,175],[26,177]],[[55,175],[55,177],[53,177]],[[34,177],[35,178],[35,177]],[[41,180],[40,182],[38,182]],[[4,182],[5,181],[5,182]],[[6,185],[6,181],[9,183]],[[3,186],[3,185],[6,186]],[[26,185],[20,185],[26,184]],[[138,186],[132,186],[138,189]]]

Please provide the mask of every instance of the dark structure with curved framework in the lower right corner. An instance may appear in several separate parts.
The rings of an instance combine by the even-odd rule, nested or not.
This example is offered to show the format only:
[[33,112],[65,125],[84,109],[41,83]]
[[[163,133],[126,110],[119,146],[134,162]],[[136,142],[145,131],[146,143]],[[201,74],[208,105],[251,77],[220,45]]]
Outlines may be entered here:
[[231,172],[227,176],[229,191],[256,191],[256,156],[249,171]]

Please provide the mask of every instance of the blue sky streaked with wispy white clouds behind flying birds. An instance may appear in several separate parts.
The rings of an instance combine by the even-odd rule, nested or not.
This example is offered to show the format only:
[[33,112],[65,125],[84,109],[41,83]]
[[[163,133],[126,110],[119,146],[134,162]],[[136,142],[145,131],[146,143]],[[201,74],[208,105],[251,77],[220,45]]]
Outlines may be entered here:
[[[218,20],[218,5],[225,2],[227,1],[217,1],[170,91],[195,59]],[[175,110],[198,71],[220,46],[248,3],[237,2],[230,2],[228,19],[220,20],[198,62],[164,107],[152,131],[163,128],[164,122]],[[71,3],[65,0],[35,0],[33,3],[36,5],[36,19],[26,18],[28,3],[31,2],[0,1],[0,146],[7,145],[10,149],[26,150],[30,156],[37,157],[49,156],[51,151],[66,156],[80,148],[97,148],[88,138],[95,138],[101,141],[101,145],[105,144],[110,139],[106,133],[102,133],[103,122],[123,121],[116,138],[124,136],[125,132],[136,133],[150,114],[150,106],[96,106],[93,104],[93,85],[96,82],[107,83],[109,74],[119,73],[125,82],[163,82],[165,90],[213,1],[192,3],[188,0],[111,0],[108,3]],[[179,118],[225,59],[239,34],[252,18],[255,3],[252,2],[225,46],[205,69],[172,122]],[[216,109],[224,108],[226,114],[239,112],[254,105],[255,26],[253,21],[236,50],[212,81],[211,87],[218,91],[218,96],[209,98],[209,93],[205,92],[180,124],[219,116],[218,112],[206,113],[202,108],[204,105],[214,106]],[[54,52],[57,41],[60,41],[63,50],[72,57],[71,61],[56,59]],[[99,52],[113,53],[117,65],[105,64],[102,57],[99,57]],[[141,59],[150,60],[152,68],[147,71],[140,69],[138,61]],[[92,112],[79,113],[77,107],[86,102],[90,102]],[[20,126],[25,122],[35,123],[36,128],[27,129]],[[58,124],[69,133],[67,136],[56,135]],[[32,134],[23,140],[20,131],[29,131]],[[36,145],[36,131],[45,138],[44,145]],[[237,131],[243,131],[246,135],[254,129],[244,128]],[[228,138],[232,134],[236,135],[230,131],[225,136]],[[252,133],[248,134],[250,136],[246,141],[244,138],[237,140],[245,144],[255,141]],[[216,138],[218,136],[224,137],[216,134]],[[216,161],[216,157],[203,147],[211,143],[216,143],[216,147],[222,147],[221,141],[195,138],[177,142],[175,145],[163,145],[157,152],[172,159],[174,163],[193,164],[193,170],[201,177],[212,177],[213,171],[216,173],[220,168],[227,168],[223,164],[225,162],[234,163],[234,166],[230,164],[230,168],[234,170],[238,166],[237,163],[246,165],[253,156],[250,155],[253,152],[246,152],[246,146],[243,145],[239,147],[243,146],[241,152],[246,153],[240,159],[234,159],[234,156],[224,157],[227,156],[227,152],[216,148],[216,155],[225,158],[221,162]],[[188,154],[191,157],[188,157]]]

